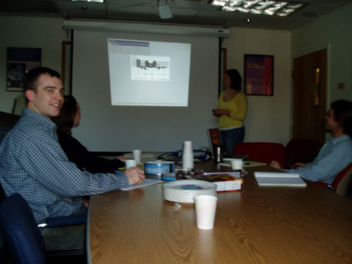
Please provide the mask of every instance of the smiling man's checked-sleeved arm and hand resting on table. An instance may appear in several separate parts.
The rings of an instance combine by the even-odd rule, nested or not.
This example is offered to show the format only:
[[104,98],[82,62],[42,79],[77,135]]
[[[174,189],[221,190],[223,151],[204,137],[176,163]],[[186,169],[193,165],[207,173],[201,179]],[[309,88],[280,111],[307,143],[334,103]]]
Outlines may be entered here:
[[60,145],[50,136],[27,142],[25,150],[27,153],[19,157],[23,168],[59,196],[101,194],[140,182],[141,172],[137,170],[127,172],[128,176],[123,173],[92,174],[79,170],[74,163],[68,161]]

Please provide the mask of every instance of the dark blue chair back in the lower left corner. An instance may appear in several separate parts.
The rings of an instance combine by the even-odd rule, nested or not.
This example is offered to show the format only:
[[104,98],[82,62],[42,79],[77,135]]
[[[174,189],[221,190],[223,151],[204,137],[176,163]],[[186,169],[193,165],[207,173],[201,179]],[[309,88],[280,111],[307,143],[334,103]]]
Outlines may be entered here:
[[13,263],[44,264],[45,244],[27,201],[13,194],[0,204],[0,224]]

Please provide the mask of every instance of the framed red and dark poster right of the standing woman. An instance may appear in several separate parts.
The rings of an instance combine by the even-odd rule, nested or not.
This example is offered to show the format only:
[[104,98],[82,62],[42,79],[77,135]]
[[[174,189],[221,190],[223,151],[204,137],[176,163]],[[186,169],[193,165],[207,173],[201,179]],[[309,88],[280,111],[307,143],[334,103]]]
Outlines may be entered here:
[[244,92],[274,95],[274,56],[244,54]]

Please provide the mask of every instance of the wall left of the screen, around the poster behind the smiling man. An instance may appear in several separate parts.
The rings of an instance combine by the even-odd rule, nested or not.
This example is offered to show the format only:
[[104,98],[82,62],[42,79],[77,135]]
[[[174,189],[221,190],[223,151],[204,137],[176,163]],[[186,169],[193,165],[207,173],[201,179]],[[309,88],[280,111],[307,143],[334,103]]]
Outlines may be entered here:
[[70,40],[62,18],[0,16],[0,111],[11,113],[20,92],[6,92],[7,47],[41,48],[42,66],[61,73],[61,45]]

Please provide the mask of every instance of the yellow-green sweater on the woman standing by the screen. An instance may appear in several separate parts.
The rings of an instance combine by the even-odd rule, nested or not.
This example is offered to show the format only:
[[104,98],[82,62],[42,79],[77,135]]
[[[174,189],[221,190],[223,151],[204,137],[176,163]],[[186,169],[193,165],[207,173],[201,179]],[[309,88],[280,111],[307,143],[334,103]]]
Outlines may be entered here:
[[230,101],[225,102],[222,100],[225,92],[222,92],[219,96],[218,109],[225,109],[231,112],[231,117],[227,115],[220,115],[218,118],[218,127],[230,128],[230,127],[241,127],[244,125],[244,118],[247,113],[247,99],[243,92],[239,92]]

